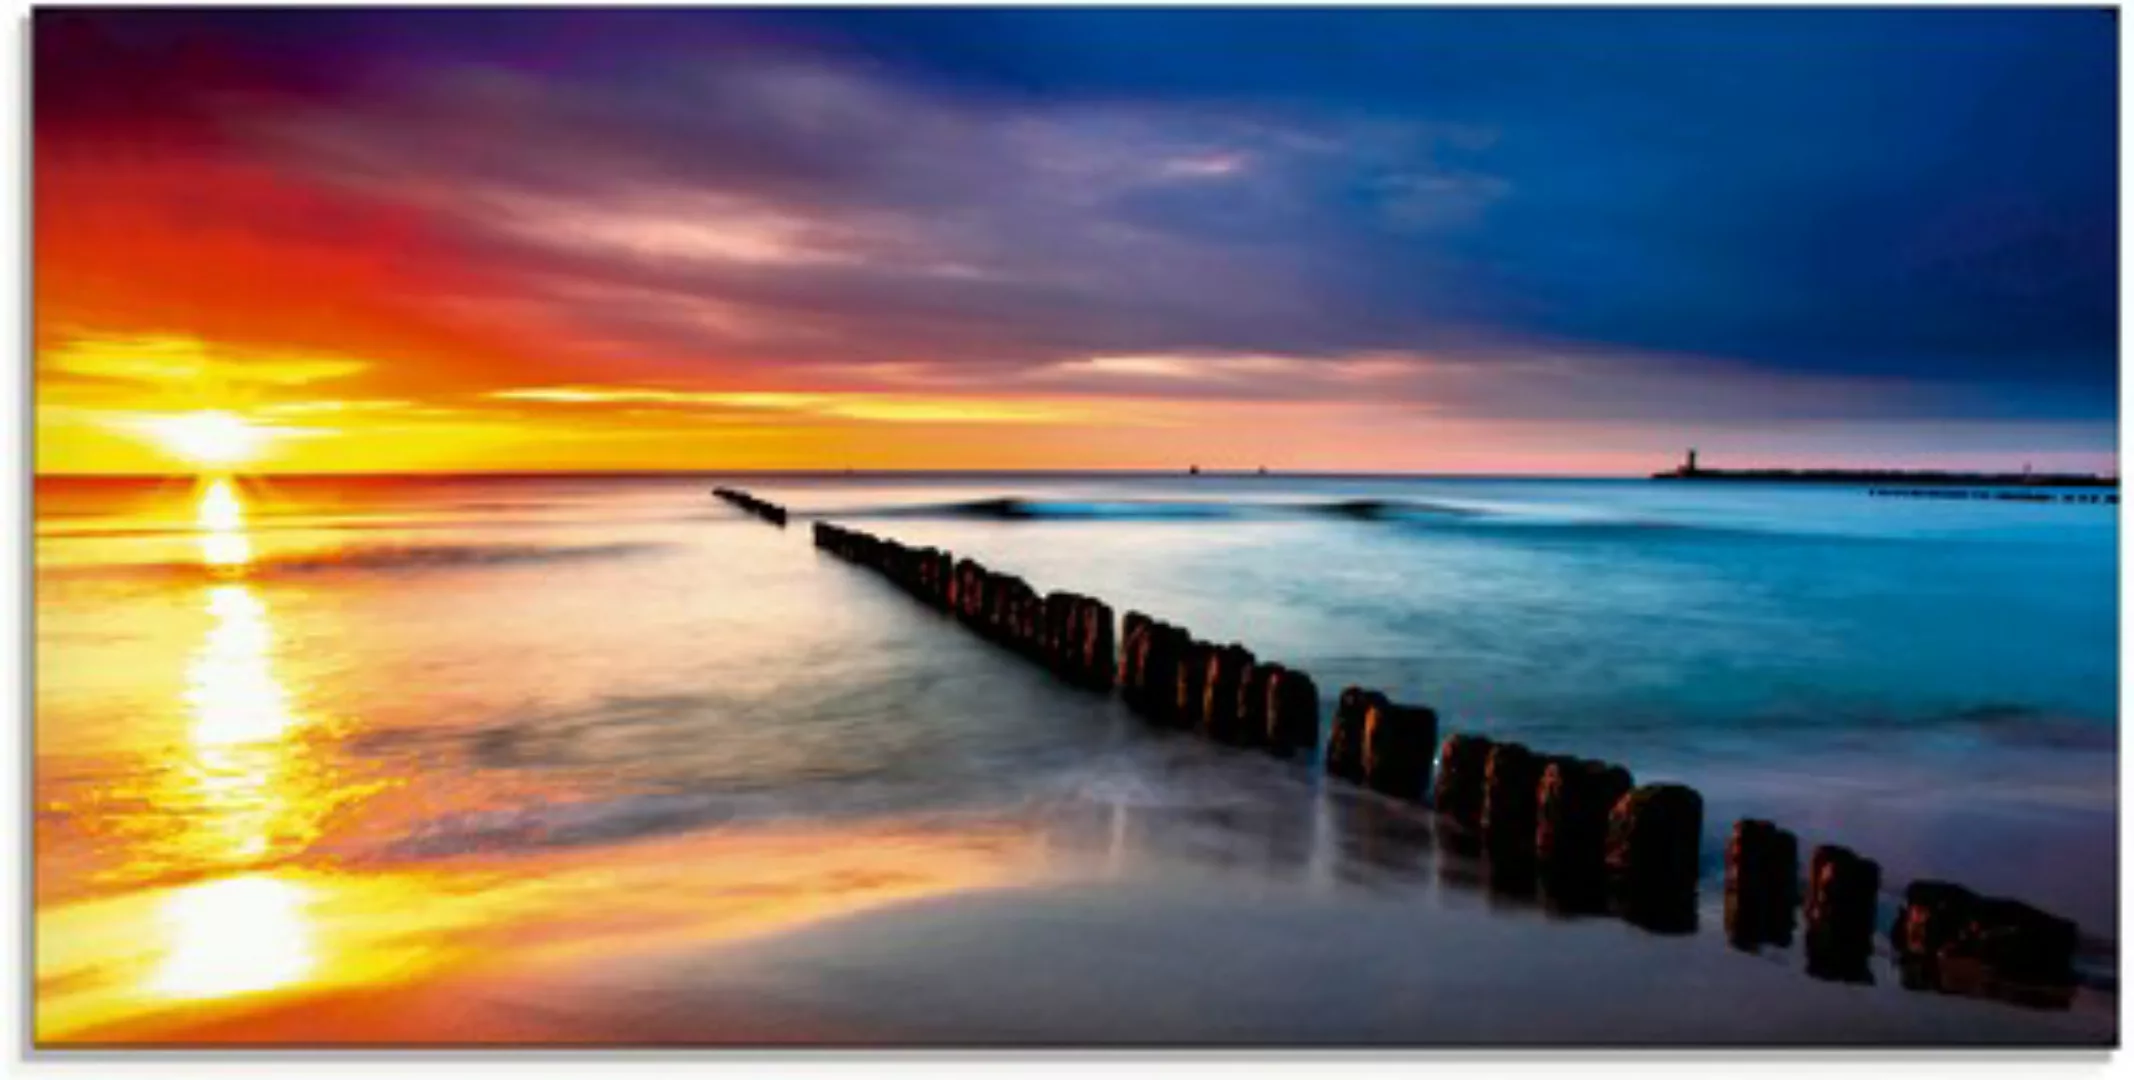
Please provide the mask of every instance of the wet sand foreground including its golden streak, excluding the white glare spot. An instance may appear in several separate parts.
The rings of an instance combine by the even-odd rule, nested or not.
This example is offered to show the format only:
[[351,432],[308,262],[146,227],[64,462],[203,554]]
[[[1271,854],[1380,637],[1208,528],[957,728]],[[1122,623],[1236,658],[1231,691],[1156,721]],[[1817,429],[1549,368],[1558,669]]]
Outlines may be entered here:
[[[62,1029],[47,1022],[55,990],[94,975],[41,967],[36,1046],[2117,1039],[2117,995],[2096,986],[2038,1012],[1899,988],[1884,950],[1876,984],[1854,986],[1803,973],[1799,948],[1729,948],[1711,884],[1688,935],[1504,894],[1415,813],[1347,792],[717,830],[348,888],[316,905],[314,941],[320,973],[348,978],[122,997]],[[120,899],[105,918],[141,924],[145,905]]]

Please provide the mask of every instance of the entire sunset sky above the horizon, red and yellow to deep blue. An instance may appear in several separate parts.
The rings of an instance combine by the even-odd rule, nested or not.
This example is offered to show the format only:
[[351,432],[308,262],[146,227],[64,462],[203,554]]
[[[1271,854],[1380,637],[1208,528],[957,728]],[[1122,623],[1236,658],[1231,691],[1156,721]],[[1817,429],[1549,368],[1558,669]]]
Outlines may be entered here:
[[38,472],[2117,472],[2113,11],[32,34]]

